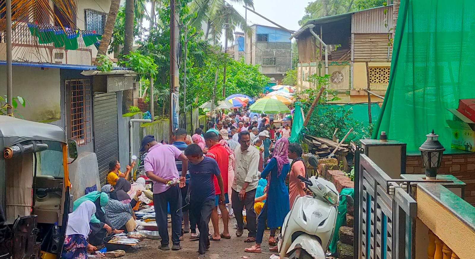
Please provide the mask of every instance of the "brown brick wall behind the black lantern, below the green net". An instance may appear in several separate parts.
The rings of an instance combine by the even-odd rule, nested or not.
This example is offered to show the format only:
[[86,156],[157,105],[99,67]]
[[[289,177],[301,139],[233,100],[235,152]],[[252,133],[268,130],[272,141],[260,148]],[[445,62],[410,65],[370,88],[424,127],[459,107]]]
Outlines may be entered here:
[[[426,173],[420,156],[406,158],[406,173]],[[437,174],[451,174],[465,182],[465,200],[475,206],[475,153],[444,155]]]

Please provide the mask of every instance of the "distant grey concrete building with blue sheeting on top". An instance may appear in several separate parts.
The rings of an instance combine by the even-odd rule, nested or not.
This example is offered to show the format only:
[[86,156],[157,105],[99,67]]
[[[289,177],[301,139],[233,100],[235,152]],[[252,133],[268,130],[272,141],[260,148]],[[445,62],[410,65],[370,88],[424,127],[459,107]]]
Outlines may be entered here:
[[245,37],[246,63],[259,64],[263,74],[280,83],[292,67],[291,33],[264,25],[251,25],[252,33]]

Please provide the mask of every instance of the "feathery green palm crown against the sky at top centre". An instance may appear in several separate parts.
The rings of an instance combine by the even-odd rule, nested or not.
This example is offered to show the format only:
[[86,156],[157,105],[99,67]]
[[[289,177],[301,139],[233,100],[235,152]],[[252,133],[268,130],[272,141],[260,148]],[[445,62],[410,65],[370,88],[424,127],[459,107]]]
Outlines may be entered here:
[[[231,1],[254,8],[254,0]],[[190,10],[197,14],[192,26],[200,28],[202,22],[207,23],[205,39],[208,39],[210,32],[216,42],[221,37],[222,30],[228,29],[228,38],[230,39],[233,38],[232,33],[236,27],[244,31],[249,30],[246,20],[224,0],[193,0],[190,4]],[[226,24],[226,15],[228,15],[228,24]]]

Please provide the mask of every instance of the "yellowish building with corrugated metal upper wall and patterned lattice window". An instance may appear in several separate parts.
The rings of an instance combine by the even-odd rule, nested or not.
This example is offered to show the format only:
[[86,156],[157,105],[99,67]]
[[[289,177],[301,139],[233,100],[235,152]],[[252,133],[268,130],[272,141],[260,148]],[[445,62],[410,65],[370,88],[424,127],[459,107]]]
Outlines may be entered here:
[[[390,39],[394,30],[390,28],[396,26],[395,17],[397,13],[393,13],[393,6],[389,5],[308,21],[292,35],[297,40],[299,55],[297,90],[315,87],[309,82],[310,75],[325,74],[323,47],[308,27],[314,25],[314,32],[332,48],[328,74],[331,75],[330,89],[337,90],[342,99],[339,102],[367,102],[365,90],[368,88],[384,96],[392,56]],[[338,46],[336,50],[335,46]],[[371,96],[371,101],[381,100]]]

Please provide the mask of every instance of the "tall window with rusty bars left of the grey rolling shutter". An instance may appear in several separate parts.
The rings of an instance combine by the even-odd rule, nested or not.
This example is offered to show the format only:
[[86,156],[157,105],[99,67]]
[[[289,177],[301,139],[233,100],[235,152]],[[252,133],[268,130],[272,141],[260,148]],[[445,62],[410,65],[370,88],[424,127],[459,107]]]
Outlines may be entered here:
[[91,142],[91,84],[90,79],[65,80],[71,89],[71,139],[79,146]]

